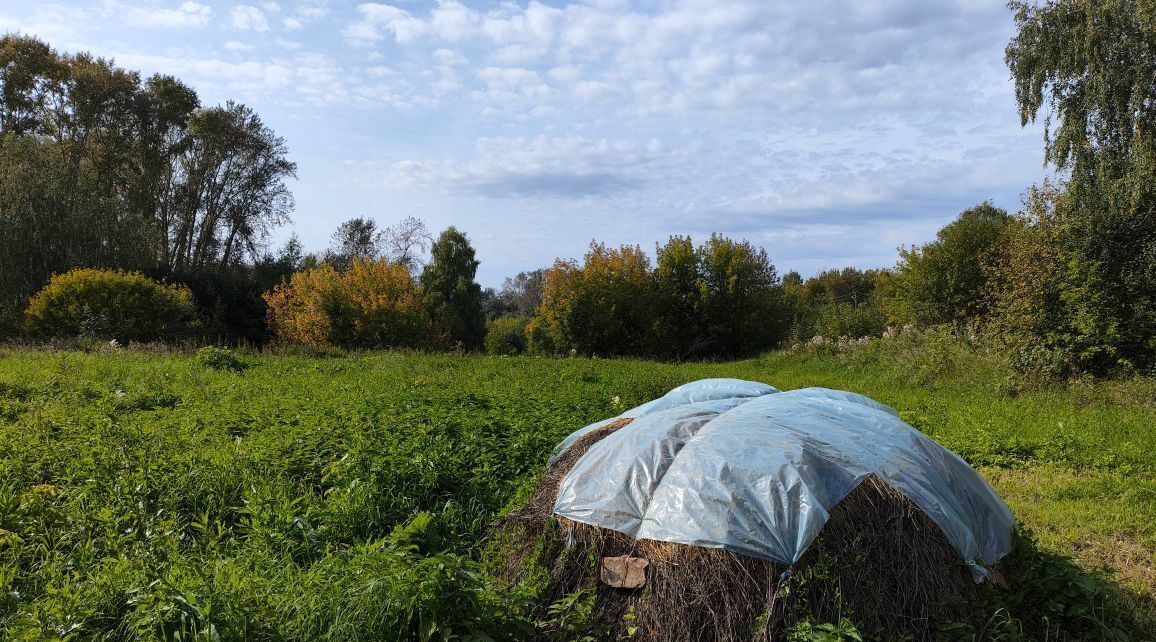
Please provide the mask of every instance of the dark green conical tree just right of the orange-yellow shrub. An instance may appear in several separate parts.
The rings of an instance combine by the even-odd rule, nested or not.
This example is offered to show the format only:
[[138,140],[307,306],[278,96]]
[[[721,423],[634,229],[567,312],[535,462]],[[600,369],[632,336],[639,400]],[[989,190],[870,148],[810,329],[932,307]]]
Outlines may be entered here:
[[469,239],[450,227],[433,243],[430,264],[422,271],[435,329],[450,346],[460,342],[466,349],[477,349],[486,338],[482,288],[474,279],[477,264]]

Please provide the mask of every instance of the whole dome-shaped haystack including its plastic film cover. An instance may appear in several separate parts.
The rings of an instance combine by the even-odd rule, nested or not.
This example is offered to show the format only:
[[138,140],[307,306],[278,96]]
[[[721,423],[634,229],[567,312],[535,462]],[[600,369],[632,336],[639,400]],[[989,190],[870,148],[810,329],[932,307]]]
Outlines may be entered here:
[[[704,379],[570,435],[503,521],[510,578],[584,589],[603,634],[753,640],[851,615],[981,625],[1013,518],[975,470],[867,397]],[[998,571],[995,573],[998,576]]]

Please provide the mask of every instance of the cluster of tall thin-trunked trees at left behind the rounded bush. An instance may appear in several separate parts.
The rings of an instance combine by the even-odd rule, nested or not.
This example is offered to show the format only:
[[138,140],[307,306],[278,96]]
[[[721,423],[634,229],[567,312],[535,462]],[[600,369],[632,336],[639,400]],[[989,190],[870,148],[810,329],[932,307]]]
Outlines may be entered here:
[[235,311],[289,268],[265,244],[292,209],[287,156],[245,105],[0,37],[0,327],[52,274],[114,267],[187,282],[220,333],[258,338]]

